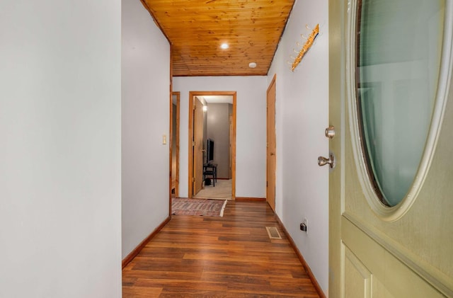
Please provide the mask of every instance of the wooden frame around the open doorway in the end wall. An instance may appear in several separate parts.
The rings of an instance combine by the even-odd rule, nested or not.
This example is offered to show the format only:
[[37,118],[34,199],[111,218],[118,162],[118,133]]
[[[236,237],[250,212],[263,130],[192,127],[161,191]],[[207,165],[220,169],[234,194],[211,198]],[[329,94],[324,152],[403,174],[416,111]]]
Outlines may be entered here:
[[189,91],[188,197],[193,197],[193,98],[194,96],[233,96],[233,139],[231,152],[231,199],[236,197],[236,91]]

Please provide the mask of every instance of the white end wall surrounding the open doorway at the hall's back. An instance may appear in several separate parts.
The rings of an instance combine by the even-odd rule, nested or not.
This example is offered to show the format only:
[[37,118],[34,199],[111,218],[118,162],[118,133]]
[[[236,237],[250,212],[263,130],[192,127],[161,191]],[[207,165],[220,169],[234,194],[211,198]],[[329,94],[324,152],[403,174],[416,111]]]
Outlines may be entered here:
[[189,91],[237,91],[236,197],[265,197],[266,79],[266,76],[173,78],[173,91],[180,91],[180,197],[188,195]]

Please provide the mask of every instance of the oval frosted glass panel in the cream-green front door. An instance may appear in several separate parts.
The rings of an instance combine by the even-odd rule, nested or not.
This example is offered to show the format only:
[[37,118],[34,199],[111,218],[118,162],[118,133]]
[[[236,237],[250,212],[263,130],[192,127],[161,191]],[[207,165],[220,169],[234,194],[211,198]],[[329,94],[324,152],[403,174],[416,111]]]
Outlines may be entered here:
[[362,0],[357,114],[369,178],[386,206],[410,190],[423,156],[440,71],[445,0]]

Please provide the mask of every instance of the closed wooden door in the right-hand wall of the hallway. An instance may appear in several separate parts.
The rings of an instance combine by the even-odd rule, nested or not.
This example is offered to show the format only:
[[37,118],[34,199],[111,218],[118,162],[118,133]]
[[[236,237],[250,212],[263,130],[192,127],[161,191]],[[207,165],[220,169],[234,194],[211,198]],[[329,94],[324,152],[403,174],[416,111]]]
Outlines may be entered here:
[[266,199],[268,204],[275,211],[275,167],[277,156],[275,155],[275,76],[268,87],[267,93],[267,182],[266,182]]

